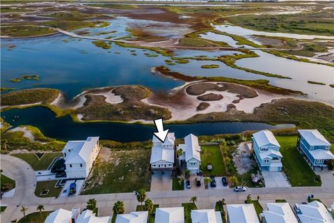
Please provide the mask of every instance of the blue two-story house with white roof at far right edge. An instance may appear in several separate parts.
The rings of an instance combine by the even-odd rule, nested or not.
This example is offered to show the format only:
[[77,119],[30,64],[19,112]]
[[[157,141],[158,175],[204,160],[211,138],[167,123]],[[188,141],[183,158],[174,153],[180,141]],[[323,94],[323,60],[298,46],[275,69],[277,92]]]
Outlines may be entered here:
[[298,130],[297,149],[308,159],[311,167],[327,167],[334,160],[331,144],[318,130]]

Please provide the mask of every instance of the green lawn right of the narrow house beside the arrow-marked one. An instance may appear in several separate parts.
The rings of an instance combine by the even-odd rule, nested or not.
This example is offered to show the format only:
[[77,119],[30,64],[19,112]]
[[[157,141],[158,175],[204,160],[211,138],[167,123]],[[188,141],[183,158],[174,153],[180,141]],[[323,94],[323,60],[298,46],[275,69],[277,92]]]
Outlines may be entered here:
[[[200,155],[202,160],[202,172],[204,176],[215,175],[215,176],[226,176],[225,163],[223,156],[221,155],[221,149],[219,145],[206,145],[200,146],[202,149],[205,148],[205,154]],[[212,171],[207,171],[207,163],[212,164]]]

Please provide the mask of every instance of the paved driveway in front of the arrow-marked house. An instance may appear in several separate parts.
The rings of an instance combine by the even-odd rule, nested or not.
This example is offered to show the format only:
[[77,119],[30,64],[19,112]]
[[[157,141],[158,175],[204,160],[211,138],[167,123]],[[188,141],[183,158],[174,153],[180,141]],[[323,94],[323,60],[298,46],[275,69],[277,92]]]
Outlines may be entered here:
[[170,172],[165,171],[164,174],[152,174],[150,191],[170,191],[173,190],[173,180]]

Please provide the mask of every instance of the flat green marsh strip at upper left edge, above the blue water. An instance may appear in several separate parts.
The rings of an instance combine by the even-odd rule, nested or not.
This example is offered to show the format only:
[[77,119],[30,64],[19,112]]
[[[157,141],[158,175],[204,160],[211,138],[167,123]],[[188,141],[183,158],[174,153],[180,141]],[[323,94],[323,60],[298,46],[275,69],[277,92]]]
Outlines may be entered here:
[[44,26],[1,26],[2,36],[11,37],[29,37],[29,36],[43,36],[56,33],[54,29]]

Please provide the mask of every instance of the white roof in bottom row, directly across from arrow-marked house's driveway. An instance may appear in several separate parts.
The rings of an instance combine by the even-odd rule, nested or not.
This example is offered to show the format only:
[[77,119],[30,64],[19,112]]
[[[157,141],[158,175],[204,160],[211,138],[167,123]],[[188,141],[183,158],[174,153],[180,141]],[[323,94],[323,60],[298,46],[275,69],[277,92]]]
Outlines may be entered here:
[[155,222],[184,223],[184,208],[157,208]]

